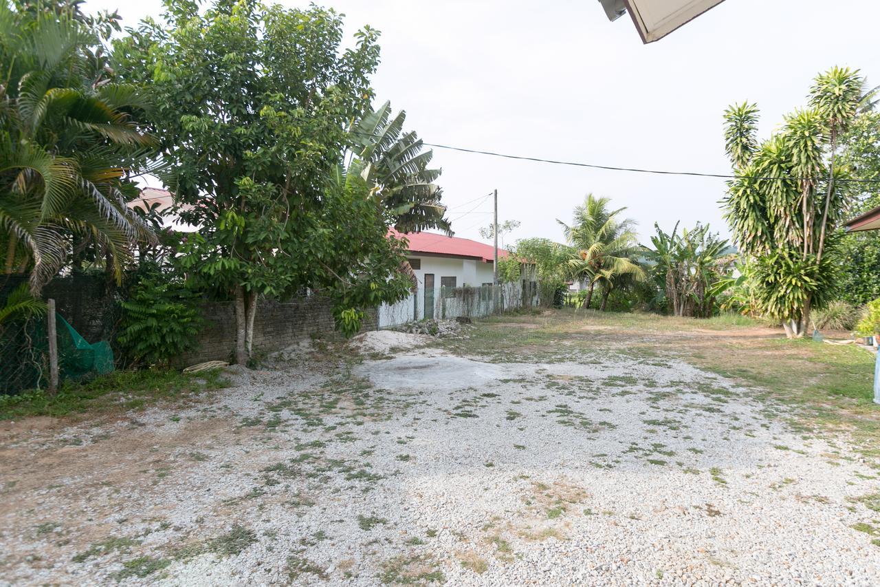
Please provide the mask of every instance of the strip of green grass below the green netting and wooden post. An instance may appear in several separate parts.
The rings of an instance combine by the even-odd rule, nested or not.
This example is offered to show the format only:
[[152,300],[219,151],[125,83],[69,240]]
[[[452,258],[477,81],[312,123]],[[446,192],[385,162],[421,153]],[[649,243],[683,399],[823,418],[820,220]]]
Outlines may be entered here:
[[197,374],[178,371],[114,371],[89,382],[64,381],[58,393],[30,390],[14,396],[0,396],[0,420],[28,416],[61,418],[77,413],[98,414],[143,409],[160,402],[194,398],[204,391],[227,387],[222,369]]

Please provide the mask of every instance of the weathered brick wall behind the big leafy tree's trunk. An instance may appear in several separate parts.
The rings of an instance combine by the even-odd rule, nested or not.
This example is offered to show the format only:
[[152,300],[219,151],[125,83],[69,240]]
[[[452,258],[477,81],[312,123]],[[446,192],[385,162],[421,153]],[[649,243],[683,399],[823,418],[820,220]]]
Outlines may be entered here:
[[[182,366],[206,360],[231,360],[235,353],[235,304],[231,301],[202,305],[204,329],[196,350],[180,358]],[[363,331],[378,328],[376,310],[367,312]],[[280,351],[313,334],[334,332],[330,301],[311,295],[294,301],[260,300],[253,322],[253,348],[259,352]]]

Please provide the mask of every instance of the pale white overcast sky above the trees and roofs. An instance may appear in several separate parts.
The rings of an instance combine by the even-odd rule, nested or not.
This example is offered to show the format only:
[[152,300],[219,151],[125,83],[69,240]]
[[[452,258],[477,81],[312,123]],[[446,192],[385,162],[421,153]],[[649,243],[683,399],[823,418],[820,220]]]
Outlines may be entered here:
[[[288,6],[307,2],[285,0]],[[757,101],[762,137],[806,102],[811,79],[849,65],[880,84],[870,0],[727,0],[661,41],[642,45],[628,16],[609,22],[597,0],[333,0],[348,40],[382,31],[378,100],[407,111],[426,142],[616,167],[729,173],[722,112]],[[158,16],[158,0],[87,0],[124,24]],[[647,241],[658,222],[700,221],[728,234],[718,179],[563,167],[435,149],[457,236],[480,240],[498,189],[505,241],[562,240],[587,193],[627,207]],[[479,204],[479,205],[478,205]],[[473,209],[476,206],[476,209]],[[465,213],[469,212],[469,213]]]

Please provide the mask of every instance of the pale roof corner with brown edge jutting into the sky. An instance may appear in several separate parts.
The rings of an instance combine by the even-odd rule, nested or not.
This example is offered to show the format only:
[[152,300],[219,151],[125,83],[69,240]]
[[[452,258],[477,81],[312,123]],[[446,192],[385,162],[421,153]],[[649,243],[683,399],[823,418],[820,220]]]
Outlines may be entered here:
[[[649,43],[663,39],[679,26],[696,19],[723,0],[599,0],[605,7],[609,18],[620,15],[614,11],[613,5],[623,4],[629,12],[642,36],[642,41]],[[616,16],[614,16],[616,18]]]

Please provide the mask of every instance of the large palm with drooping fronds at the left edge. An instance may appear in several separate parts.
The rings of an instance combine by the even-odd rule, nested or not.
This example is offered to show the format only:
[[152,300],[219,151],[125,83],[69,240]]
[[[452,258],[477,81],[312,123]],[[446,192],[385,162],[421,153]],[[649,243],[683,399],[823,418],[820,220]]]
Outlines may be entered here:
[[0,5],[0,246],[5,272],[30,271],[38,293],[71,253],[91,249],[121,279],[137,241],[129,175],[153,140],[132,115],[136,89],[112,83],[102,25],[77,3],[14,11]]

